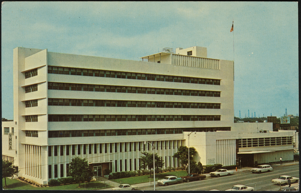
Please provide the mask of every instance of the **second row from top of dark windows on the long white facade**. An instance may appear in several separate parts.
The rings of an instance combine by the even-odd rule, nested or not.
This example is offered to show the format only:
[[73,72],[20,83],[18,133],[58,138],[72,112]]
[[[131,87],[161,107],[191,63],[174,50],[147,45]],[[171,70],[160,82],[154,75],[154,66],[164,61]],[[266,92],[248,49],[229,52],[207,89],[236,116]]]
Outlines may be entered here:
[[208,90],[184,90],[169,88],[149,88],[149,87],[125,87],[112,85],[97,84],[73,84],[48,82],[50,90],[78,90],[78,91],[97,91],[113,93],[144,93],[144,94],[168,94],[168,95],[185,95],[185,96],[215,96],[220,97],[220,91]]

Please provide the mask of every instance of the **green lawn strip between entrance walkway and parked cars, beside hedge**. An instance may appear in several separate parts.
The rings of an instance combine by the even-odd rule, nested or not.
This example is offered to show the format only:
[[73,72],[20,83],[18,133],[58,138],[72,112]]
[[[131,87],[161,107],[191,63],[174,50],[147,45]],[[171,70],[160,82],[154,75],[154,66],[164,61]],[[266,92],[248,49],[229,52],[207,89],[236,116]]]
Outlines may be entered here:
[[[158,179],[163,179],[165,176],[186,176],[187,172],[185,170],[180,170],[180,171],[173,171],[173,172],[166,172],[166,173],[156,173],[155,180]],[[111,181],[113,182],[117,182],[117,183],[122,183],[122,184],[140,184],[140,183],[145,183],[145,182],[149,182],[150,181],[150,175],[144,175],[144,176],[135,176],[135,177],[129,177],[129,178],[120,178],[120,179],[111,179]],[[151,182],[154,181],[154,176],[152,173],[151,176]]]

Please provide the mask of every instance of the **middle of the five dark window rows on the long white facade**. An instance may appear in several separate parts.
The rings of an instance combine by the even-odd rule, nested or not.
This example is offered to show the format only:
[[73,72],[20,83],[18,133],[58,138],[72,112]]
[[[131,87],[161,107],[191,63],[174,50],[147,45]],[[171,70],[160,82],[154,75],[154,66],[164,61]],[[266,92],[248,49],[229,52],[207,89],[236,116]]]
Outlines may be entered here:
[[88,100],[88,99],[54,99],[54,98],[48,98],[48,105],[49,106],[194,108],[194,109],[197,108],[198,109],[220,109],[221,108],[220,103],[181,103],[181,102],[160,102],[160,101]]

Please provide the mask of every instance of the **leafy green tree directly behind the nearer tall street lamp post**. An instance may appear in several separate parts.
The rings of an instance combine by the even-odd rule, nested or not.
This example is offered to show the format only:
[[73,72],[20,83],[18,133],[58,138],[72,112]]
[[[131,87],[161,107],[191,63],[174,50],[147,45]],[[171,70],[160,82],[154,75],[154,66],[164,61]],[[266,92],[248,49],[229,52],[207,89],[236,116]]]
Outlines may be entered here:
[[159,158],[159,156],[155,153],[155,167],[154,168],[154,154],[148,153],[148,152],[142,152],[142,156],[140,158],[141,161],[141,167],[145,170],[148,168],[149,170],[158,169],[163,167],[163,160]]

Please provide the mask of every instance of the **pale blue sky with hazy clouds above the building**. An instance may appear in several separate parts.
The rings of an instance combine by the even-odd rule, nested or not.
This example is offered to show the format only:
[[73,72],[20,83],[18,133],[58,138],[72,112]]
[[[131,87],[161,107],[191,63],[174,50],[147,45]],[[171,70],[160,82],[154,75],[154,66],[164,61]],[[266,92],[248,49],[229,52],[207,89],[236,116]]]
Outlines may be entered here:
[[234,59],[234,116],[299,115],[298,2],[2,2],[1,16],[3,118],[21,46],[128,60],[207,47]]

